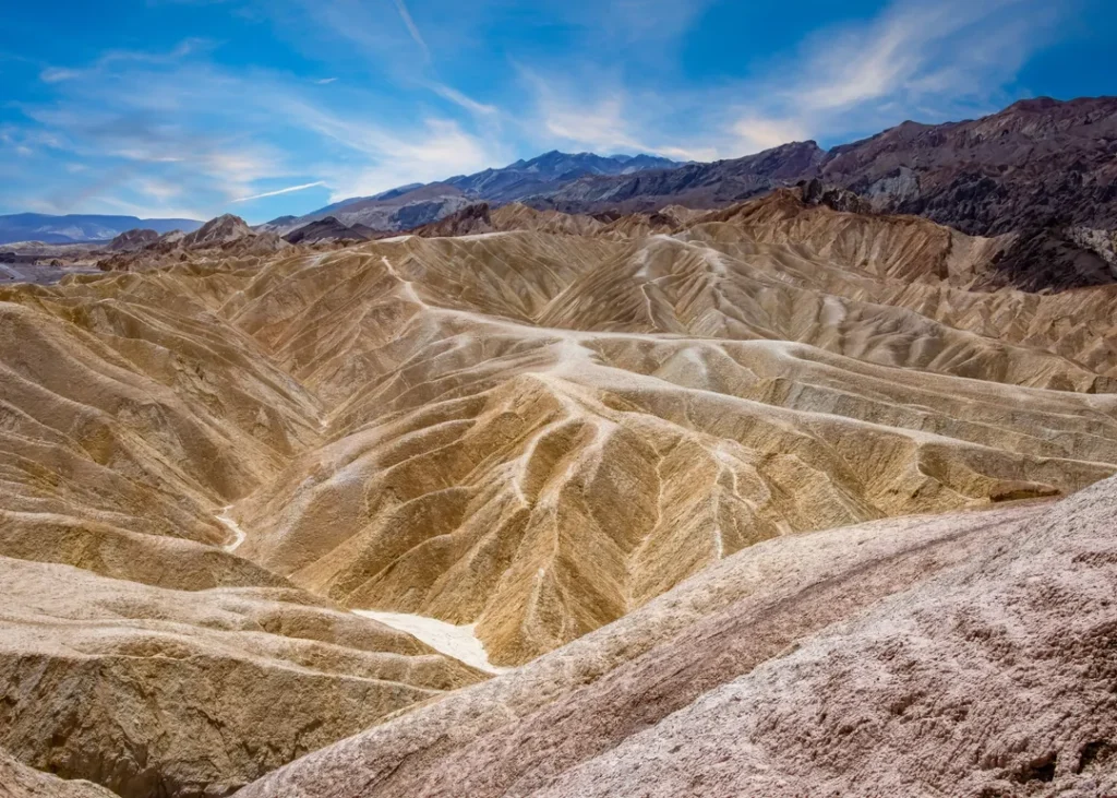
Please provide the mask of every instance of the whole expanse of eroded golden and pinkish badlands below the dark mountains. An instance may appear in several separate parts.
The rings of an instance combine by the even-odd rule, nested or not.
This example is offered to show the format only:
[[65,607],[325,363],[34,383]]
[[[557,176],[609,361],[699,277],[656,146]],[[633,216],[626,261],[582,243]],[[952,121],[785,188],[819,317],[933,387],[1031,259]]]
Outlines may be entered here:
[[0,289],[0,749],[127,797],[370,726],[244,795],[1113,772],[1113,483],[1040,500],[1117,473],[1117,291],[792,191],[438,224]]

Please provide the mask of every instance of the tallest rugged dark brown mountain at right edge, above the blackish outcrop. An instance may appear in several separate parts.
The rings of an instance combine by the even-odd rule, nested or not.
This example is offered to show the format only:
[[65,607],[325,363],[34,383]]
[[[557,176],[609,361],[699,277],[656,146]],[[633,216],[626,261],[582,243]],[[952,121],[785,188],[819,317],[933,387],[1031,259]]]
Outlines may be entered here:
[[[1117,227],[1117,98],[1028,99],[973,122],[913,122],[836,148],[824,180],[965,232]],[[884,181],[884,182],[881,182]]]

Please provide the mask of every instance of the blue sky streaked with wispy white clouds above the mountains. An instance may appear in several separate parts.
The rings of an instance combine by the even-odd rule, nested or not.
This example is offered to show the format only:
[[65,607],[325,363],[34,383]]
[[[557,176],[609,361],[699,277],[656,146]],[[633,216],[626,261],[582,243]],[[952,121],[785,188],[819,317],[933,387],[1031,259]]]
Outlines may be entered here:
[[551,149],[710,160],[1117,94],[1110,0],[7,3],[0,212],[251,222]]

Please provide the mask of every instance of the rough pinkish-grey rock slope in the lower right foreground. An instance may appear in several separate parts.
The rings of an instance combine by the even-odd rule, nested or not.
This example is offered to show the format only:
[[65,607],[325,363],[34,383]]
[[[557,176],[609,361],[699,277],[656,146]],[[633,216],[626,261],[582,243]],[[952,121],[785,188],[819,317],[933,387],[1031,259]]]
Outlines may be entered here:
[[1107,795],[1115,512],[768,541],[241,796]]

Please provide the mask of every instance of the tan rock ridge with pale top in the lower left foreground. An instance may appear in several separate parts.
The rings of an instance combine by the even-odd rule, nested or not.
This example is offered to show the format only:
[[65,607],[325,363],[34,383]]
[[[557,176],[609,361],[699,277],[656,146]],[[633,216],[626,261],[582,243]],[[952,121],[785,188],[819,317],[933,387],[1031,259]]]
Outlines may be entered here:
[[228,795],[483,675],[289,587],[0,558],[0,747],[117,795]]

